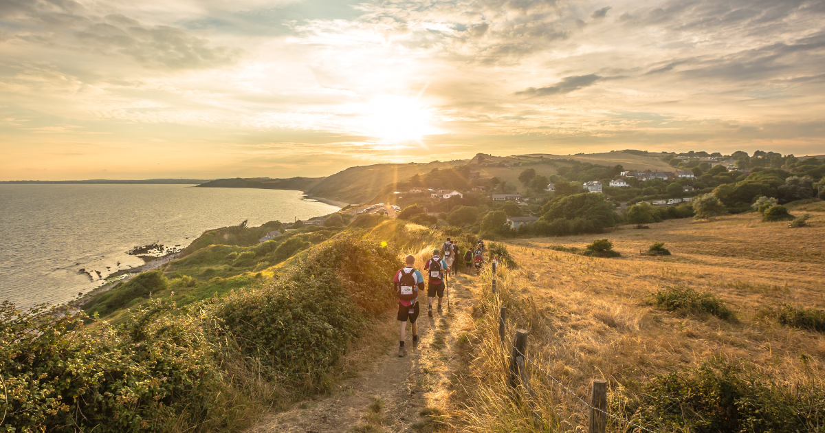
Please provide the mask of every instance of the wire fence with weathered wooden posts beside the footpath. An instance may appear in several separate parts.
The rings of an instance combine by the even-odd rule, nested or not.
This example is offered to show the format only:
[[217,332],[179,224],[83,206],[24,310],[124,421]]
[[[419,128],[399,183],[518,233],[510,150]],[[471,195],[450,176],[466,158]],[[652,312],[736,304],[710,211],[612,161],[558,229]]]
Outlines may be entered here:
[[[493,260],[493,280],[491,281],[491,288],[493,290],[493,294],[496,294],[497,291],[497,268],[498,260],[496,257]],[[556,379],[553,374],[549,374],[549,369],[544,368],[542,365],[536,363],[534,360],[527,357],[526,351],[528,336],[529,332],[526,332],[523,329],[516,329],[514,337],[512,337],[511,341],[508,341],[507,307],[500,306],[498,313],[498,337],[501,339],[502,349],[505,353],[512,349],[511,355],[509,357],[510,371],[507,378],[507,382],[514,391],[517,390],[519,382],[521,382],[521,387],[526,390],[527,403],[530,407],[530,414],[533,418],[533,423],[535,427],[541,428],[544,425],[549,425],[549,422],[545,422],[543,419],[541,419],[540,411],[538,410],[536,403],[535,391],[530,386],[530,378],[527,374],[527,365],[530,365],[534,369],[538,370],[541,374],[544,375],[544,377],[549,379],[551,384],[558,385],[559,388],[562,389],[563,393],[569,394],[577,402],[582,403],[582,406],[587,407],[587,411],[590,412],[587,426],[588,433],[605,433],[608,418],[625,424],[626,426],[632,427],[636,429],[636,431],[658,433],[657,431],[650,430],[645,426],[639,426],[639,424],[633,421],[626,420],[625,418],[619,417],[613,413],[608,412],[607,381],[604,379],[593,379],[591,381],[590,402],[587,402],[587,400],[580,397],[577,393],[573,392],[573,390],[568,388],[568,386],[566,386],[565,384],[563,384],[561,380]],[[554,412],[552,409],[550,410]],[[558,413],[555,413],[555,415],[559,417]]]

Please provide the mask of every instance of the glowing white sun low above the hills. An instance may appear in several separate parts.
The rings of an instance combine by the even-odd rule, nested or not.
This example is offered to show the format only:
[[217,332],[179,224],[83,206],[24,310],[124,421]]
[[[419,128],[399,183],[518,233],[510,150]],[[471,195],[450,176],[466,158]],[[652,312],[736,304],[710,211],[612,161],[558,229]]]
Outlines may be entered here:
[[364,118],[365,129],[386,143],[420,142],[435,134],[432,115],[420,101],[403,96],[378,96],[370,101]]

